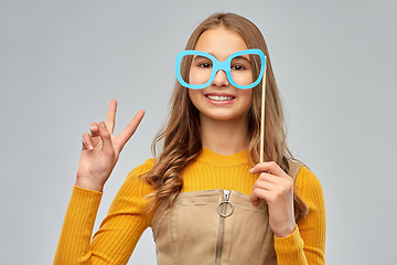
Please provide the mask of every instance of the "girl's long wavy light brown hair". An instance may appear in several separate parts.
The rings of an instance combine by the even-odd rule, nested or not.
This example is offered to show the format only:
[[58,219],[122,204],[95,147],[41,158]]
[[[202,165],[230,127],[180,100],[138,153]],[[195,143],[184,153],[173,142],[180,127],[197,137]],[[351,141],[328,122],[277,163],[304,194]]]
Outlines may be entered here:
[[[246,42],[248,49],[260,49],[266,60],[266,100],[265,100],[265,161],[275,161],[287,173],[288,159],[292,159],[286,145],[285,118],[281,102],[271,68],[269,52],[259,29],[249,20],[235,13],[215,13],[204,20],[190,36],[185,50],[194,50],[201,34],[208,30],[224,26],[238,33]],[[259,73],[260,62],[251,57],[254,73]],[[189,76],[191,62],[181,63],[181,75]],[[256,76],[254,76],[256,77]],[[260,153],[260,107],[261,83],[253,88],[253,104],[248,110],[248,161],[250,166],[259,162]],[[157,147],[162,142],[160,156],[157,157]],[[157,135],[152,144],[154,166],[142,176],[143,180],[155,191],[149,194],[151,206],[164,202],[171,206],[173,200],[182,189],[182,171],[193,161],[202,150],[200,136],[200,115],[189,97],[187,89],[175,82],[171,97],[171,109],[168,121]],[[308,206],[294,192],[296,218],[305,216]]]

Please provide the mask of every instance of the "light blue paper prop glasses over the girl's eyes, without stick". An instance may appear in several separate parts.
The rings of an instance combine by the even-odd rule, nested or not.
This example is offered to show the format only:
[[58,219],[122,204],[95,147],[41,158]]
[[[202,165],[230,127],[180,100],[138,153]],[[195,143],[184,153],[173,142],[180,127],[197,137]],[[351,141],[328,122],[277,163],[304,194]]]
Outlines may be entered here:
[[[218,71],[224,71],[230,85],[248,89],[260,83],[265,64],[266,56],[259,49],[233,53],[224,62],[217,61],[206,52],[185,50],[176,55],[175,73],[179,83],[184,87],[203,89],[214,82]],[[189,74],[181,73],[181,65],[190,66]]]

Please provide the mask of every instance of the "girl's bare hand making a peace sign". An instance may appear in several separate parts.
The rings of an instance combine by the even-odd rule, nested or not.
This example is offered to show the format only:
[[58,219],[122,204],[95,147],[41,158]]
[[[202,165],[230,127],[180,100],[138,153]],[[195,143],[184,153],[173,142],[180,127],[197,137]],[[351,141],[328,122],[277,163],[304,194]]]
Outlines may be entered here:
[[83,148],[78,160],[76,186],[87,190],[103,191],[119,155],[136,131],[144,112],[139,110],[120,135],[114,136],[117,102],[110,102],[106,123],[90,125],[90,134],[83,135]]

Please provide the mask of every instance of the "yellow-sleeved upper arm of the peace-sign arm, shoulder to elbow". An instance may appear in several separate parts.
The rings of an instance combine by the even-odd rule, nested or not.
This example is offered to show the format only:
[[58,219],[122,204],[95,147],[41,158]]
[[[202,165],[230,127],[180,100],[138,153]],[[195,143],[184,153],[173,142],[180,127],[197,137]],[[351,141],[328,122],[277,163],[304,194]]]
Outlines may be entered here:
[[97,261],[127,264],[140,236],[152,220],[153,211],[148,212],[148,201],[144,197],[154,190],[137,179],[152,166],[153,160],[150,159],[132,170],[117,192],[107,216],[94,234],[92,264],[96,264]]

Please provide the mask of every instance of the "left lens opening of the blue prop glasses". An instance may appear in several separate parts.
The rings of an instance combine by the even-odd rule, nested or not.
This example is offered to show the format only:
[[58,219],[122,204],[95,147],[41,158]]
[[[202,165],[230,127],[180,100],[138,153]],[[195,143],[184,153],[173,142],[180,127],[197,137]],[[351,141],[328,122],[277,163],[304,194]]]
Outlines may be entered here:
[[[184,65],[190,65],[189,74],[183,73]],[[213,61],[206,56],[184,55],[181,61],[182,78],[190,85],[204,85],[210,81],[213,65]]]

